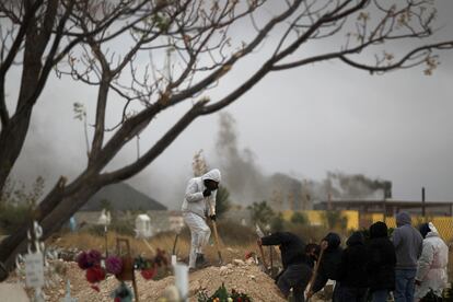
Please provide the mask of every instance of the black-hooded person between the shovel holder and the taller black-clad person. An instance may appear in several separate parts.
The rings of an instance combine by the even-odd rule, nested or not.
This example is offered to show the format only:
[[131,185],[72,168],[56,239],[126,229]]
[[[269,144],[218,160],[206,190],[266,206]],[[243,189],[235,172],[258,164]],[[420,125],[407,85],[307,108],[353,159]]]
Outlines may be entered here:
[[338,301],[364,302],[368,288],[368,251],[362,232],[353,232],[346,245],[338,267]]

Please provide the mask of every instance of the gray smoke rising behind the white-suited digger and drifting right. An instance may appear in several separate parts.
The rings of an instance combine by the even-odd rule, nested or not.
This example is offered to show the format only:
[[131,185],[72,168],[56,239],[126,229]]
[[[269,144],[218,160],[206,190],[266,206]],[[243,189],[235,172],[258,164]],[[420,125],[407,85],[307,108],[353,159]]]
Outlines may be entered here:
[[323,181],[298,178],[284,173],[266,175],[249,149],[240,149],[235,119],[220,114],[217,155],[223,182],[233,202],[244,206],[267,200],[276,209],[310,209],[313,202],[333,199],[391,197],[392,183],[362,174],[328,172]]

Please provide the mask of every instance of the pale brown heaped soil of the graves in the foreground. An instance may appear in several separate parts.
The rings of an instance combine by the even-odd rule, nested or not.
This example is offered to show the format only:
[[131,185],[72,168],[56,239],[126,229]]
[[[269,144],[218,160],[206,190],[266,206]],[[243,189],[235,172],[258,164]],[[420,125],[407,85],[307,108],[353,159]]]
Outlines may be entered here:
[[[66,294],[66,282],[70,281],[71,295],[79,302],[113,301],[111,292],[119,284],[118,280],[111,276],[98,284],[100,291],[92,289],[86,281],[84,271],[77,263],[59,262],[65,267],[63,278],[45,290],[46,301],[59,302]],[[140,274],[136,274],[140,301],[158,301],[163,295],[164,290],[174,284],[174,277],[164,279],[144,280]],[[16,278],[11,278],[10,282],[15,282]],[[226,289],[235,289],[239,292],[247,293],[253,301],[283,302],[274,280],[264,274],[258,266],[251,263],[236,260],[221,267],[208,267],[197,270],[189,275],[189,297],[190,301],[197,301],[199,291],[207,291],[212,294],[222,283]]]

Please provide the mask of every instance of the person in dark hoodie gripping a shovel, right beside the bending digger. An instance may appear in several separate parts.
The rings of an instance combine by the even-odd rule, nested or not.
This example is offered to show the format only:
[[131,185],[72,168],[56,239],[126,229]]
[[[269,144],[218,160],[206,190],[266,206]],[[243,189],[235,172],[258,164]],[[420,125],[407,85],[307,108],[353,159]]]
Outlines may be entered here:
[[[312,290],[307,293],[307,298],[311,298],[314,293],[322,290],[327,280],[338,280],[338,271],[339,265],[341,263],[341,253],[342,249],[340,247],[340,236],[337,233],[328,233],[322,241],[321,241],[321,248],[324,249],[323,257],[320,262],[320,267],[317,269],[316,279],[314,280]],[[338,301],[338,290],[337,286],[334,289],[334,297],[333,301]]]

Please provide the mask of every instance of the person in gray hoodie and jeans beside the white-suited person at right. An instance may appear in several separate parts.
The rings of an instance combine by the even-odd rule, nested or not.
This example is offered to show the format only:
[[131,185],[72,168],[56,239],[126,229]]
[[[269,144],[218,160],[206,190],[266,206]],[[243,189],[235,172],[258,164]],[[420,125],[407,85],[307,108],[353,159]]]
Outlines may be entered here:
[[420,232],[411,226],[407,212],[396,216],[396,228],[392,234],[396,252],[395,267],[395,302],[414,302],[417,260],[421,255],[422,242]]

